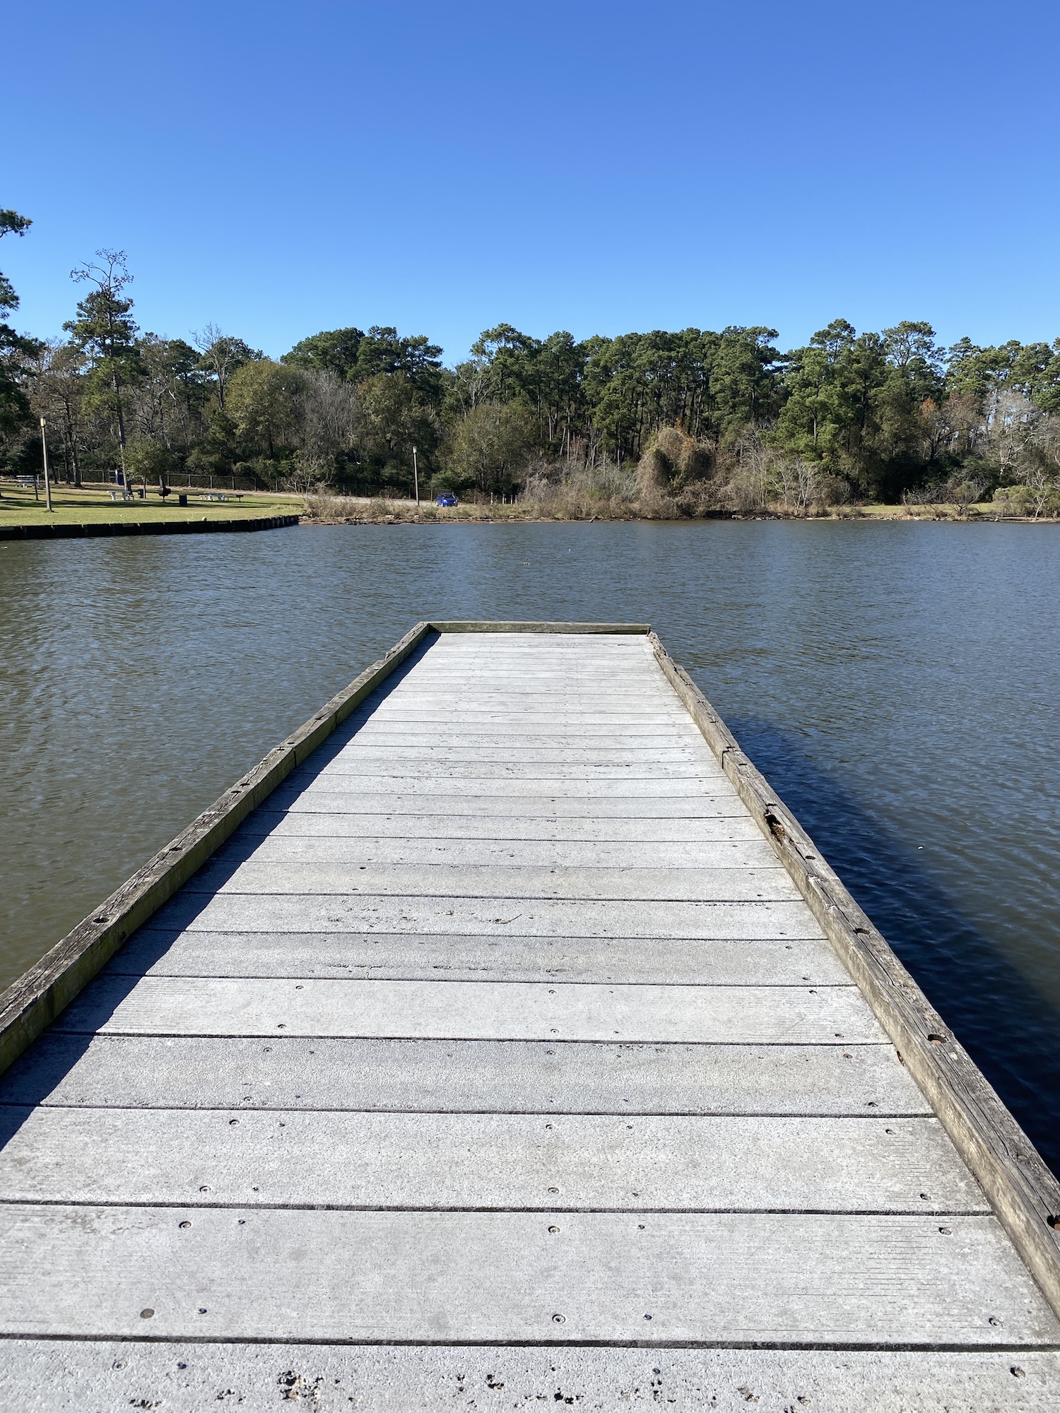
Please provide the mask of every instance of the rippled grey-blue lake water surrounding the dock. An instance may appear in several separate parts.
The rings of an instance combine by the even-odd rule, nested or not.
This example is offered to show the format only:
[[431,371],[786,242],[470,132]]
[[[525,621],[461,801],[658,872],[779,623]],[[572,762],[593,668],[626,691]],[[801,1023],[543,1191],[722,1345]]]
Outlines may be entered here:
[[421,617],[650,622],[1060,1171],[1060,531],[0,544],[0,983]]

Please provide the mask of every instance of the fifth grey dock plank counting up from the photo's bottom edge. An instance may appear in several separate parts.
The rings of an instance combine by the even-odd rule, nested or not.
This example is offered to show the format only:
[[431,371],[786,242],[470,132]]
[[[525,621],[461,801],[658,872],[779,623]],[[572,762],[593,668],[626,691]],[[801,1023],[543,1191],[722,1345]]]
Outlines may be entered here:
[[650,986],[495,981],[146,976],[96,981],[58,1030],[126,1036],[331,1036],[882,1044],[855,986]]

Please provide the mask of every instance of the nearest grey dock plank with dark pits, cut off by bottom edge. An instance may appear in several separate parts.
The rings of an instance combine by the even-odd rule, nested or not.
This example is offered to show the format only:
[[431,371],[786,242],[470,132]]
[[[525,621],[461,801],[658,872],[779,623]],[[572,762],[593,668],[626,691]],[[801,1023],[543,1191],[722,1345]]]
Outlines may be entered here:
[[[13,1340],[0,1397],[48,1413],[276,1410],[438,1413],[471,1406],[625,1413],[1052,1413],[1060,1354],[496,1345],[130,1344]],[[28,1396],[27,1396],[28,1390]]]

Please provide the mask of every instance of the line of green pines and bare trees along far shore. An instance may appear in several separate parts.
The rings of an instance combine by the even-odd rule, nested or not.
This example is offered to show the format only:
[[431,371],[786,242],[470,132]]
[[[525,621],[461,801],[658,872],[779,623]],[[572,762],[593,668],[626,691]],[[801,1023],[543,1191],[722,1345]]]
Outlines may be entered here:
[[[0,212],[0,236],[30,225]],[[462,495],[594,471],[685,509],[724,503],[721,487],[742,509],[960,486],[965,500],[1001,490],[1040,513],[1060,495],[1060,339],[944,348],[926,322],[859,333],[835,319],[782,352],[763,326],[579,342],[500,324],[447,367],[425,335],[373,326],[270,359],[213,325],[188,339],[141,332],[122,252],[98,252],[72,280],[65,338],[35,339],[7,322],[18,300],[0,276],[8,473],[37,468],[45,417],[73,483],[124,469],[148,483],[408,495],[416,448],[421,483]]]

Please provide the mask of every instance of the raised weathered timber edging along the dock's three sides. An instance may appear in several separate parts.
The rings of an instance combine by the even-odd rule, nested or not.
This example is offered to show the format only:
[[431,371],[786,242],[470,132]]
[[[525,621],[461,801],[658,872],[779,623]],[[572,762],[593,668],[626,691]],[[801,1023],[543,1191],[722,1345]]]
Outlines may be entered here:
[[420,622],[298,731],[160,849],[100,907],[0,995],[0,1074],[122,945],[202,866],[285,777],[430,633],[646,636],[656,661],[769,839],[899,1058],[931,1104],[1016,1251],[1060,1314],[1060,1183],[882,933],[854,901],[796,817],[741,750],[718,712],[646,623]]

